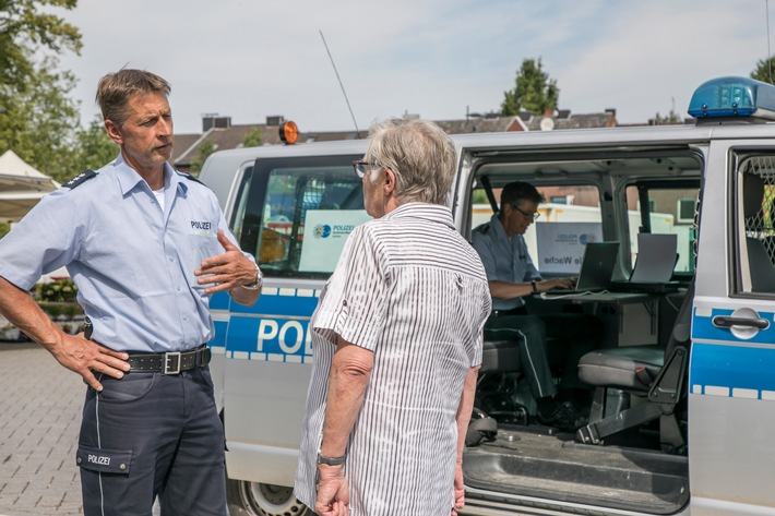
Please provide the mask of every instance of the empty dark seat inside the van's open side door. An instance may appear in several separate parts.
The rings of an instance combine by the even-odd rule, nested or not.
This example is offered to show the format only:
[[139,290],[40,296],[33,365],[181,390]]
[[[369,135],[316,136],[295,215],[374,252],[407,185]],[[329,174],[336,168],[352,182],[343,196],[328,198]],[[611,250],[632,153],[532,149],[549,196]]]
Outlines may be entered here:
[[[694,279],[689,284],[666,345],[596,350],[581,358],[579,376],[596,389],[589,422],[576,432],[579,442],[603,444],[609,435],[659,419],[661,448],[671,453],[684,448],[676,408],[685,397],[693,299]],[[609,389],[623,391],[643,400],[606,413]]]

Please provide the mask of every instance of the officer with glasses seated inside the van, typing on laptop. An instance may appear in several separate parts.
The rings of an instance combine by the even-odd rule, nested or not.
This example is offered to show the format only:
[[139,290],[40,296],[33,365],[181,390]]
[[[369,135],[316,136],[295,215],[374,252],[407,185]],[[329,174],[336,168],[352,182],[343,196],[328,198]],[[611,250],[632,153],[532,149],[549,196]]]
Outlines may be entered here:
[[[588,399],[579,380],[579,359],[597,346],[600,321],[579,313],[529,315],[525,296],[555,288],[572,288],[573,278],[542,279],[533,265],[523,235],[538,218],[542,195],[529,183],[516,181],[501,192],[500,211],[476,229],[473,244],[481,257],[492,296],[492,314],[485,327],[518,329],[522,371],[538,407],[538,420],[575,430],[577,400]],[[547,346],[550,343],[550,346]],[[552,369],[559,370],[559,392]]]

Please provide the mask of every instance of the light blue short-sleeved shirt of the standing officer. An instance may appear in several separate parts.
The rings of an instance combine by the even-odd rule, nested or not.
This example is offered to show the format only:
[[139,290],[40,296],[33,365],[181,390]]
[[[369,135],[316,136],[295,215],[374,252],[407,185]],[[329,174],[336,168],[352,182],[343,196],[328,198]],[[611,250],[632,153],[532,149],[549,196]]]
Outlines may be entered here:
[[0,240],[0,276],[28,290],[67,266],[92,338],[115,350],[208,341],[210,297],[193,271],[224,252],[218,229],[235,238],[210,189],[168,164],[164,175],[164,209],[121,156],[47,195]]

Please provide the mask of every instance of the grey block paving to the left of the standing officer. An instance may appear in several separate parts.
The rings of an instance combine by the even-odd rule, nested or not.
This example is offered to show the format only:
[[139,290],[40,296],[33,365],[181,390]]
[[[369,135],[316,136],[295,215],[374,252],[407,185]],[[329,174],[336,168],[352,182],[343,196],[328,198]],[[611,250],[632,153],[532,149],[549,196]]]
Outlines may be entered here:
[[0,515],[80,515],[85,384],[37,345],[0,343]]

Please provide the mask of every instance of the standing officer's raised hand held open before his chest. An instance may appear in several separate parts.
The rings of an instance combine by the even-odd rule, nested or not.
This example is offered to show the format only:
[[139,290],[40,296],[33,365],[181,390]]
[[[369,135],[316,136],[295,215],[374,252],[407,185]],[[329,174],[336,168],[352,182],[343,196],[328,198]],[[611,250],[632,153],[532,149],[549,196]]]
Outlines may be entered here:
[[203,260],[200,268],[194,271],[199,285],[212,285],[204,291],[220,292],[255,283],[255,265],[226,238],[222,229],[218,229],[218,242],[226,252]]

